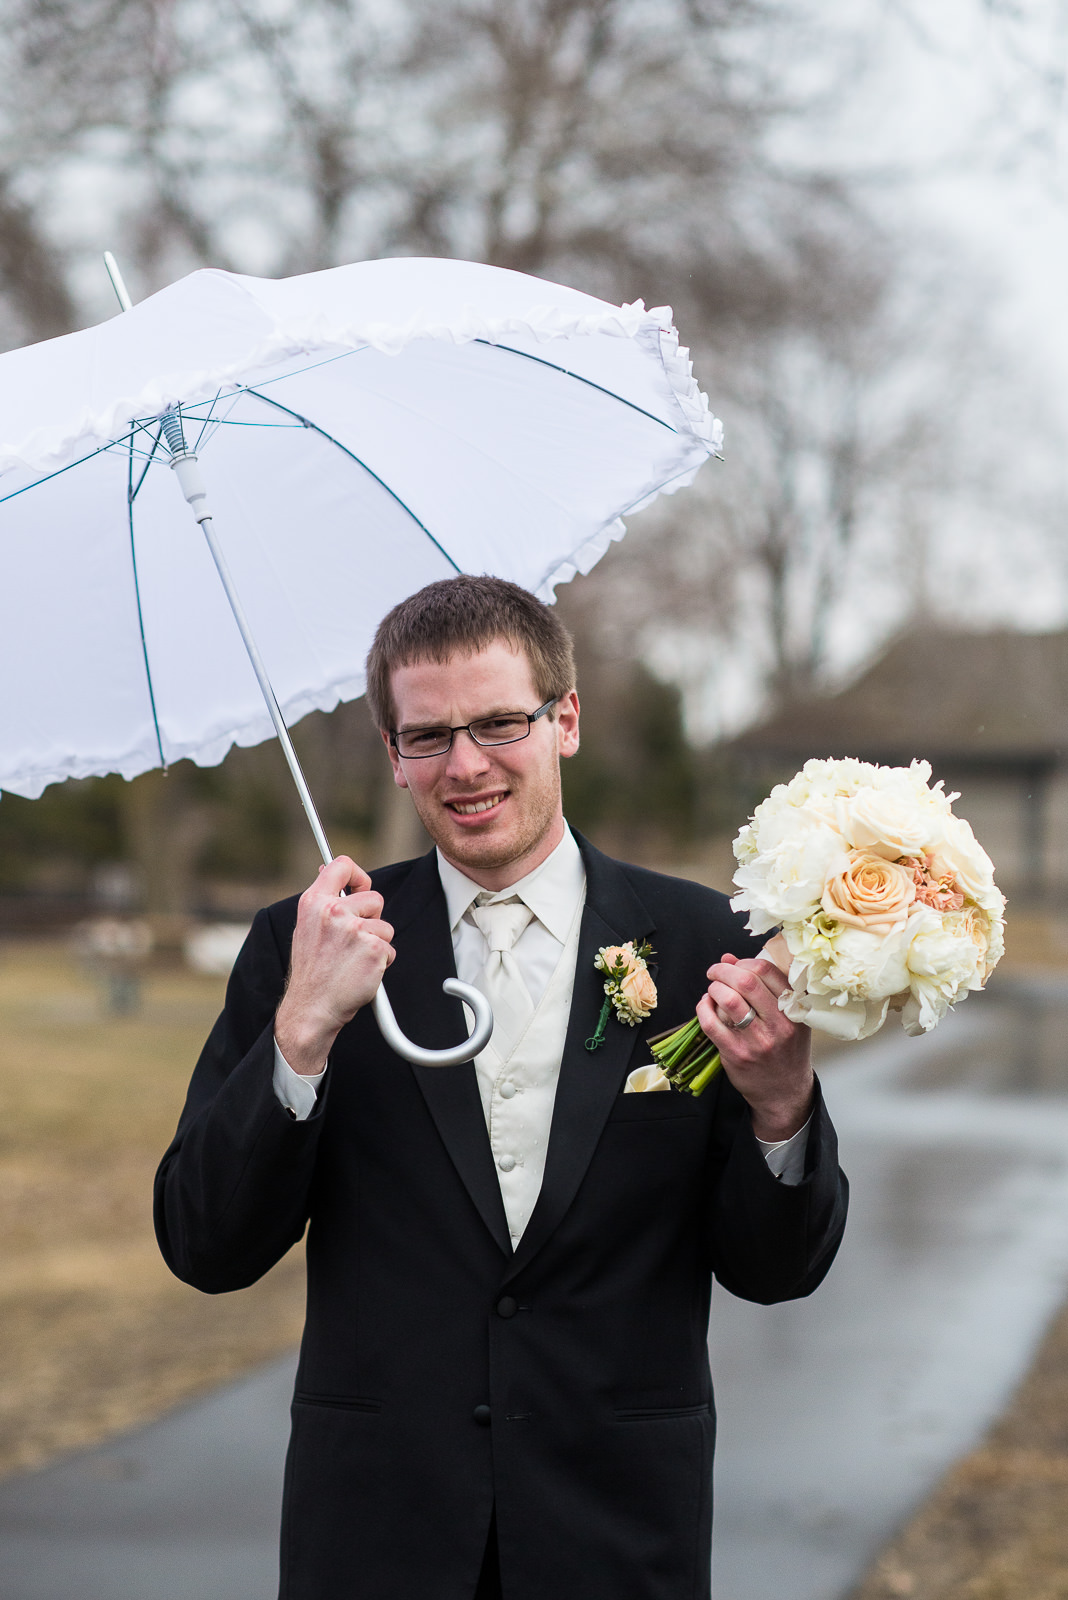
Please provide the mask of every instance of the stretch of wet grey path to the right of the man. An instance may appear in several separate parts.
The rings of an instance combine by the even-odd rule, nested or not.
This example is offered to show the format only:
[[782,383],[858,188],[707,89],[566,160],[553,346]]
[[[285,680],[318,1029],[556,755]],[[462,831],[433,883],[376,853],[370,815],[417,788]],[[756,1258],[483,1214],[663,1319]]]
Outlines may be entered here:
[[713,1298],[716,1600],[838,1600],[1068,1293],[1068,986],[1002,982],[825,1070],[852,1181],[811,1301]]

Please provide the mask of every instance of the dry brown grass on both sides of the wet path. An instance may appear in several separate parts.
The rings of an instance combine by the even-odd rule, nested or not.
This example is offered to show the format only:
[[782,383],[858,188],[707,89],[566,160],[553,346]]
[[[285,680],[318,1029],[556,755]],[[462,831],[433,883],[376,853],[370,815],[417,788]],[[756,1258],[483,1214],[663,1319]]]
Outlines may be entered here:
[[[1068,965],[1050,918],[1015,917],[1009,941],[1010,965]],[[0,947],[0,1472],[149,1421],[299,1338],[299,1253],[209,1298],[171,1278],[152,1237],[152,1173],[221,998],[217,979],[160,971],[139,1016],[106,1018],[62,946]],[[902,1595],[1068,1600],[1068,1312],[855,1600]]]

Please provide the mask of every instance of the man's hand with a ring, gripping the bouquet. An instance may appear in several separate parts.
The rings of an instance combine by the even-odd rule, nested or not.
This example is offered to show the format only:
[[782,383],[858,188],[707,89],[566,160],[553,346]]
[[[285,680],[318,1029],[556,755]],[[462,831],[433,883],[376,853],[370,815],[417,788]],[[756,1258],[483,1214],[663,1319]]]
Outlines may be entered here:
[[[779,1010],[788,987],[779,968],[761,957],[724,955],[708,968],[708,992],[697,1019],[723,1059],[723,1070],[753,1114],[758,1139],[790,1139],[812,1112],[815,1078],[811,1030]],[[748,1013],[753,1019],[737,1027]]]

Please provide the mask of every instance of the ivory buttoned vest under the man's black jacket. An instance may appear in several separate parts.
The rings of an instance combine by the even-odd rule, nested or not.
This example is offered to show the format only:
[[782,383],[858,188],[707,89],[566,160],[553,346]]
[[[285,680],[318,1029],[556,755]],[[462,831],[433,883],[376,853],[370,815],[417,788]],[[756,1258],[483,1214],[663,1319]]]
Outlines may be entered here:
[[478,1093],[513,1250],[542,1190],[548,1128],[576,986],[584,901],[585,896],[576,907],[568,942],[548,987],[510,1054],[499,1054],[491,1038],[483,1053],[475,1056]]

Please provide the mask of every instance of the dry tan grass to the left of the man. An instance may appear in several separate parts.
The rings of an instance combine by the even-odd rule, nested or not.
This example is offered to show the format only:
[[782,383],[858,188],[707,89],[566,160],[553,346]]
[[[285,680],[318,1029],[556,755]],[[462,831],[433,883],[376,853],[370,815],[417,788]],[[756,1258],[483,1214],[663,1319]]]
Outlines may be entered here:
[[294,1344],[299,1253],[241,1294],[163,1266],[152,1174],[222,998],[160,971],[107,1018],[62,946],[0,947],[0,1472],[122,1432]]

